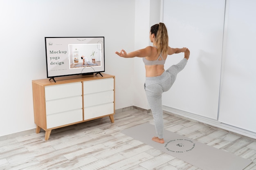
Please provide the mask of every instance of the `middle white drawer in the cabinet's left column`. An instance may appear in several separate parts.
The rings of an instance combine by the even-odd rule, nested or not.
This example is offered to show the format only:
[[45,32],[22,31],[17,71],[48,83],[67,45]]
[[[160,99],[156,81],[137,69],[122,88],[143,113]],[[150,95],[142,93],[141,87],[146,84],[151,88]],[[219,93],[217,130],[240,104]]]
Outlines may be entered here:
[[45,102],[46,115],[83,108],[82,96],[49,100]]

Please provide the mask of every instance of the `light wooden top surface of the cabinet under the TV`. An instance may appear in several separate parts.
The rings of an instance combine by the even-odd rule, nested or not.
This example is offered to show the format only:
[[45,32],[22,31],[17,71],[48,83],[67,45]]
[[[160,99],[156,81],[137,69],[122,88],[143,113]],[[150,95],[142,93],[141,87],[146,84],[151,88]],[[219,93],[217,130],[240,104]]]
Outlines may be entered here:
[[105,73],[101,73],[101,75],[72,75],[72,76],[64,76],[64,77],[54,77],[56,83],[53,80],[47,79],[37,79],[32,80],[33,83],[37,83],[43,86],[48,85],[55,85],[55,84],[64,84],[64,83],[72,83],[72,82],[81,82],[81,81],[88,81],[88,80],[94,80],[94,79],[104,79],[104,78],[114,78],[114,75],[109,75]]

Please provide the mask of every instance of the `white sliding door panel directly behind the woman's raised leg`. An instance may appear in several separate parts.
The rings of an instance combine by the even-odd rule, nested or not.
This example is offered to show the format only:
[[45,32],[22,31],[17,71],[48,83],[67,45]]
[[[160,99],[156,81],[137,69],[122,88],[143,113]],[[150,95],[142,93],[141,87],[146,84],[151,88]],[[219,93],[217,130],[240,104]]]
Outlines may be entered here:
[[[225,0],[164,0],[169,46],[191,51],[173,87],[163,93],[164,108],[217,120],[224,18]],[[183,57],[169,55],[165,69]]]

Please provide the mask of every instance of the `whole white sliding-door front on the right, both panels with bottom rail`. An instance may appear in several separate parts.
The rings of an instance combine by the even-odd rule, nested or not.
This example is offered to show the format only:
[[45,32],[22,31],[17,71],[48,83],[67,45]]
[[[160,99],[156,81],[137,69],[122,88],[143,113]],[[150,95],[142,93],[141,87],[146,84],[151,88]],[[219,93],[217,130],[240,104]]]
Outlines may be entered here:
[[[163,95],[164,110],[256,137],[255,5],[252,0],[164,0],[170,46],[184,44],[191,51]],[[176,56],[174,63],[183,57]]]

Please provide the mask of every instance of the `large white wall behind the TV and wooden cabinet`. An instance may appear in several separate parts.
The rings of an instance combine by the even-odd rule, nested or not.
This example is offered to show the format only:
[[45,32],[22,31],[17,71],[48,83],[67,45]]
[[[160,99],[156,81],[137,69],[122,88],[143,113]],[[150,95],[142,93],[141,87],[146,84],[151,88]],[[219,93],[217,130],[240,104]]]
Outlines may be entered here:
[[116,109],[133,106],[135,0],[0,1],[0,136],[35,128],[31,80],[46,78],[44,37],[105,36],[106,72],[116,76]]

